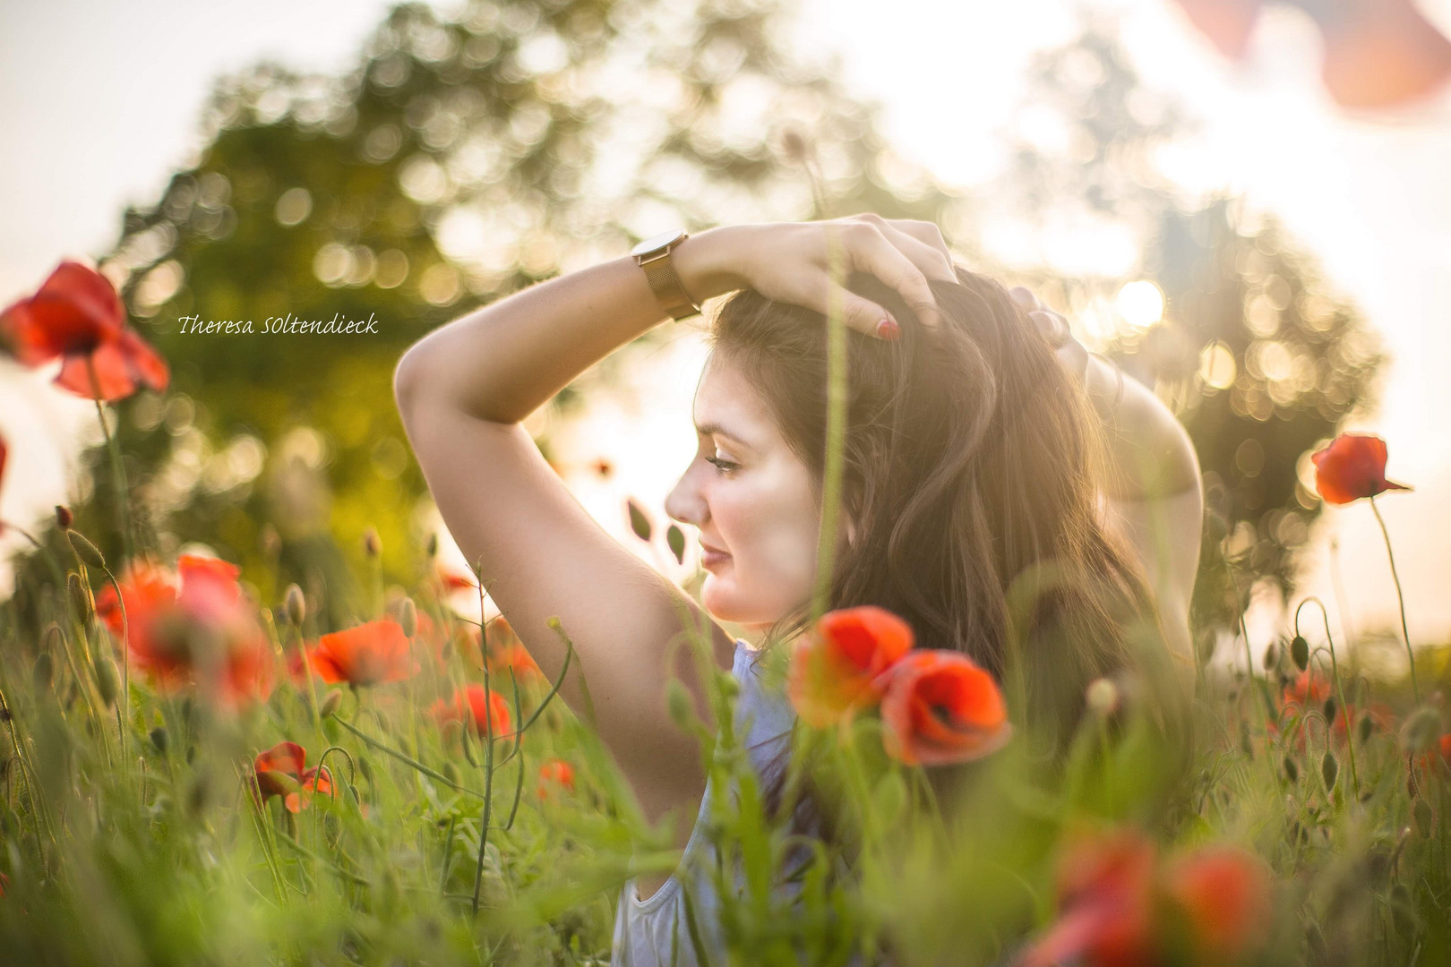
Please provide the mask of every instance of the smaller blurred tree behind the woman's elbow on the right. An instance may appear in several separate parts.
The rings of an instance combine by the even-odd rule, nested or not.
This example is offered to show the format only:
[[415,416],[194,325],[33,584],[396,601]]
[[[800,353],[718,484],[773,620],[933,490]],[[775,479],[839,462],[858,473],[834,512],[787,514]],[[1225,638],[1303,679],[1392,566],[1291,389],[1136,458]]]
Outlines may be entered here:
[[[1233,628],[1254,581],[1293,589],[1320,512],[1309,454],[1374,403],[1384,355],[1271,217],[1239,200],[1187,200],[1161,173],[1158,152],[1191,125],[1143,87],[1111,23],[1040,55],[1029,91],[1007,190],[991,197],[1036,219],[1040,238],[1069,226],[1106,249],[1135,239],[1138,257],[1116,273],[1065,281],[1046,257],[1030,271],[1194,441],[1207,510],[1194,622],[1207,644]],[[1241,571],[1238,594],[1226,560]]]

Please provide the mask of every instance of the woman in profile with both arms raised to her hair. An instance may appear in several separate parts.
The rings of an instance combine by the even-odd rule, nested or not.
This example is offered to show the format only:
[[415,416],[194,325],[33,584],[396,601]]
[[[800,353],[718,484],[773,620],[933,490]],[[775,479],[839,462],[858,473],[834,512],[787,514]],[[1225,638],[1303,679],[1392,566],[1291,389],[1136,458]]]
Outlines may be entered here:
[[[844,289],[831,281],[833,244]],[[1033,707],[1065,728],[1082,686],[1129,661],[1132,615],[1156,607],[1187,663],[1201,516],[1194,451],[1154,394],[1090,358],[1061,318],[956,268],[924,222],[723,226],[669,255],[695,304],[736,293],[718,309],[696,390],[699,449],[666,505],[699,529],[710,618],[747,628],[766,648],[791,647],[805,628],[824,467],[823,323],[840,304],[849,413],[829,606],[887,607],[911,623],[918,647],[965,651],[1001,676],[1013,581],[1033,565],[1066,565],[1068,580],[1046,596],[1048,632],[1024,649]],[[559,616],[588,670],[599,735],[651,822],[670,810],[696,816],[707,792],[696,739],[665,703],[665,683],[679,677],[711,721],[704,677],[692,649],[672,645],[708,626],[711,660],[743,684],[750,649],[609,538],[521,422],[665,319],[656,293],[621,257],[443,326],[395,375],[450,532],[550,677],[564,648],[546,621]],[[582,707],[577,680],[560,694]],[[779,705],[755,690],[741,702],[763,723],[784,723]],[[779,786],[768,787],[779,796]],[[679,823],[676,842],[694,845],[695,829]],[[625,886],[620,961],[669,963],[678,893],[673,874]]]

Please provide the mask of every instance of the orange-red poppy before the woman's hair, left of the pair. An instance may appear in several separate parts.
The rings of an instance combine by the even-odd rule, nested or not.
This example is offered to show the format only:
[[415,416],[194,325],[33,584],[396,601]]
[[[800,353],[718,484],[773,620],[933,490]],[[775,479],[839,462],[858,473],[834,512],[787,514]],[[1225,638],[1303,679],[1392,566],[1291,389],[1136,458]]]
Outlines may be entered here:
[[881,700],[882,673],[911,645],[911,626],[884,607],[827,612],[791,655],[786,689],[797,713],[815,728],[850,722]]

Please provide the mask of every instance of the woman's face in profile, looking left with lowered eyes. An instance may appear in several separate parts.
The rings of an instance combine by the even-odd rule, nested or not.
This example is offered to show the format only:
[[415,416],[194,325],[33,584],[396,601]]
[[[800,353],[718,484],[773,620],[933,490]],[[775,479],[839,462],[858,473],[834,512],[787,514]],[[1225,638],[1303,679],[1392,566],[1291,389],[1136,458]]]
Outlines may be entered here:
[[763,631],[811,596],[821,516],[811,473],[765,400],[718,355],[705,362],[694,409],[695,458],[665,509],[699,528],[705,609]]

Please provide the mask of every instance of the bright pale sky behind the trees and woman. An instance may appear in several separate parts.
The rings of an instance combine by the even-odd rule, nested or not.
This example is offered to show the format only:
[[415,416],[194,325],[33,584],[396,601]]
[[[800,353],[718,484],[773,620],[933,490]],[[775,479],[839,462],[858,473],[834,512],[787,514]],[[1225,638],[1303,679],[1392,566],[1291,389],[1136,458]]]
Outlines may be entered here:
[[[0,126],[10,133],[0,141],[0,304],[32,291],[61,258],[104,252],[125,204],[160,196],[197,148],[215,77],[263,58],[345,70],[387,6],[255,0],[245,17],[234,4],[194,0],[0,7],[0,90],[9,93]],[[1412,636],[1447,639],[1451,381],[1441,367],[1451,361],[1451,91],[1389,115],[1348,115],[1320,88],[1318,33],[1290,7],[1268,7],[1248,62],[1232,65],[1168,0],[1087,6],[1120,17],[1145,81],[1177,96],[1201,125],[1161,158],[1165,170],[1190,190],[1229,190],[1273,212],[1381,333],[1393,357],[1383,404],[1351,428],[1384,436],[1389,476],[1415,486],[1378,503],[1396,541]],[[1451,0],[1421,7],[1451,33]],[[795,42],[840,51],[849,87],[885,106],[900,154],[961,186],[997,173],[998,135],[1014,122],[1029,58],[1068,41],[1078,23],[1069,0],[897,0],[891,16],[868,0],[804,0],[801,9]],[[55,36],[65,38],[64,58],[45,42]],[[622,539],[620,494],[659,507],[694,452],[689,402],[699,360],[702,348],[691,341],[638,360],[630,371],[638,386],[654,387],[651,396],[596,407],[567,431],[620,468],[609,486],[583,474],[572,486]],[[94,406],[52,390],[45,373],[0,361],[0,433],[10,441],[0,519],[39,526],[54,503],[78,494],[77,448],[100,436]],[[593,455],[580,452],[580,462]],[[1328,509],[1315,535],[1306,593],[1325,596],[1339,621],[1326,552],[1335,539],[1352,629],[1399,621],[1370,507]],[[23,545],[17,535],[0,536],[0,596],[12,581],[3,558]]]

